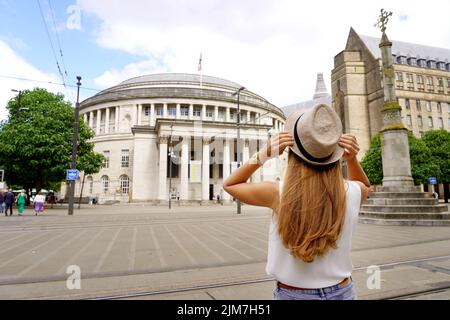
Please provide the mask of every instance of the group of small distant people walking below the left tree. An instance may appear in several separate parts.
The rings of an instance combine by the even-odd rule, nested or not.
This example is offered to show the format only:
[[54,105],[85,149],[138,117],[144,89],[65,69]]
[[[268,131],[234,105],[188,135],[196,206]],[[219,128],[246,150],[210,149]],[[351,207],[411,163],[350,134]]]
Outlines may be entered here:
[[[25,190],[21,190],[17,197],[11,189],[7,192],[0,191],[0,213],[5,213],[5,216],[7,217],[9,210],[9,215],[12,216],[13,205],[16,204],[18,215],[22,216],[27,199],[28,196],[25,193]],[[38,192],[31,198],[31,203],[34,206],[34,213],[37,216],[44,211],[45,196],[43,196],[41,192]]]

